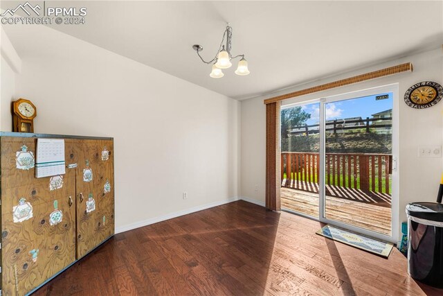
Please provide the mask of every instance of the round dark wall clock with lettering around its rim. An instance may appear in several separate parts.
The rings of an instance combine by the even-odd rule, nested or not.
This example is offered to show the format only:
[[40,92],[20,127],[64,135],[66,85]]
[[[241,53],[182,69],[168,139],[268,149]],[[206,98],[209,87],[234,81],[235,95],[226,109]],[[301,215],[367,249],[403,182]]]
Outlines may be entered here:
[[423,81],[416,83],[404,94],[404,101],[409,107],[426,109],[437,104],[443,97],[443,87],[437,82]]

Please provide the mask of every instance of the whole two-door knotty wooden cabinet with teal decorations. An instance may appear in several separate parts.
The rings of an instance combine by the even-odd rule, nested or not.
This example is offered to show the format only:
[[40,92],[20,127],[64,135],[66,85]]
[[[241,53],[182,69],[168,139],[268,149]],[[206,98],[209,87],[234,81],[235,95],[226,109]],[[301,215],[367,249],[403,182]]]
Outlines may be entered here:
[[[114,234],[114,141],[0,136],[1,295],[26,295]],[[17,153],[35,157],[39,137],[64,139],[61,188],[51,188],[51,177],[36,178],[33,167],[17,168]]]

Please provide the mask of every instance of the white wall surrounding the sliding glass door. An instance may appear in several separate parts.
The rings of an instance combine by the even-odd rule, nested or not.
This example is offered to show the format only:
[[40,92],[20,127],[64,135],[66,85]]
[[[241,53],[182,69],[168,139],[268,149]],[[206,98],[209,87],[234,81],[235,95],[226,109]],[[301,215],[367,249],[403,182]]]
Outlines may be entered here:
[[[404,62],[413,63],[414,71],[412,73],[387,76],[291,99],[293,102],[307,101],[399,83],[399,102],[397,102],[399,104],[399,225],[401,225],[401,221],[406,220],[404,212],[406,204],[420,200],[435,201],[440,184],[440,176],[443,171],[442,159],[419,158],[417,150],[419,146],[442,146],[443,102],[426,110],[415,110],[404,103],[404,93],[411,85],[424,80],[432,80],[443,85],[442,49],[310,82],[272,95],[277,96]],[[242,101],[241,195],[261,204],[264,204],[265,184],[265,107],[263,100],[272,96]],[[258,191],[255,191],[256,184],[259,187]],[[401,234],[401,232],[399,233]]]

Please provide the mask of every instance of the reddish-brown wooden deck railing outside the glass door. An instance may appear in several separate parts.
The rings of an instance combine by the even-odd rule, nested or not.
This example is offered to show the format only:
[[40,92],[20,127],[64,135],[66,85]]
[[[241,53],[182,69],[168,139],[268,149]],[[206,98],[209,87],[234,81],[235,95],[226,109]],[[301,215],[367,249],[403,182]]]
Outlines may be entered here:
[[[390,174],[392,155],[326,153],[326,185],[390,195]],[[318,193],[319,176],[318,153],[281,153],[283,187]]]

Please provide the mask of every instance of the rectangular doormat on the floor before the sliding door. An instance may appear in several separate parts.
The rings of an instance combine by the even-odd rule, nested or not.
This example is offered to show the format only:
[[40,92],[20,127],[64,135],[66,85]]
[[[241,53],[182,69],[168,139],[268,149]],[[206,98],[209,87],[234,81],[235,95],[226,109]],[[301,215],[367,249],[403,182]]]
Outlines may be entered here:
[[368,238],[367,236],[362,236],[361,234],[354,234],[353,232],[348,232],[345,229],[337,228],[332,225],[323,226],[322,229],[316,232],[316,234],[331,238],[334,241],[345,243],[346,245],[356,247],[372,254],[377,254],[384,258],[389,257],[392,247],[394,246],[392,243],[377,241],[374,238]]

